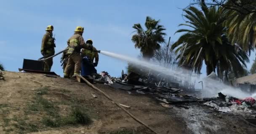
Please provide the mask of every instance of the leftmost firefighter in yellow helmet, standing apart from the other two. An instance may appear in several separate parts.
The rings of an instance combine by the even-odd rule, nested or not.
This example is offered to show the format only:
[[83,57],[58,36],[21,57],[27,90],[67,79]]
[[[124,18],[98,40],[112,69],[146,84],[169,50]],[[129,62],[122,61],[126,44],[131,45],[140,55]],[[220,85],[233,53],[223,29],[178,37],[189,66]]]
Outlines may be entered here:
[[[56,47],[54,43],[55,38],[53,37],[53,26],[51,25],[47,26],[45,31],[46,33],[42,39],[41,54],[43,55],[43,57],[48,57],[55,53],[54,48]],[[44,71],[50,72],[52,65],[53,65],[53,58],[49,58],[45,60]]]

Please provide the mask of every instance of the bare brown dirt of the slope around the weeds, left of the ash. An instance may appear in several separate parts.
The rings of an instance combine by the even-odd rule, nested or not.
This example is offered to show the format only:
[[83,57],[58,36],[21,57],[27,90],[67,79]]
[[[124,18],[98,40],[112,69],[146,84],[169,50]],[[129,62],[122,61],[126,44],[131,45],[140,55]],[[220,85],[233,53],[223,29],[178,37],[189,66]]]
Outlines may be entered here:
[[[44,99],[56,104],[59,113],[63,116],[70,111],[70,104],[77,103],[88,109],[93,123],[88,125],[71,125],[57,128],[40,126],[33,134],[100,134],[110,133],[121,129],[134,129],[142,134],[150,134],[144,126],[134,121],[124,111],[115,106],[103,95],[88,87],[84,83],[74,82],[64,78],[45,77],[41,74],[21,72],[5,72],[5,80],[0,81],[0,133],[15,134],[20,130],[15,119],[25,119],[26,123],[37,124],[48,113],[29,113],[29,106],[37,97],[40,88],[48,87],[49,93],[42,95]],[[160,134],[187,133],[184,122],[173,114],[168,114],[168,109],[161,107],[155,100],[142,95],[129,95],[122,90],[115,90],[102,84],[96,87],[109,93],[117,102],[127,106],[131,113],[149,124]],[[93,98],[95,93],[98,98]],[[65,103],[63,103],[65,102]],[[2,106],[2,108],[1,108]],[[4,107],[5,106],[5,107]],[[6,121],[7,120],[7,121]],[[182,128],[182,129],[180,129]],[[32,129],[33,131],[33,129]],[[21,132],[22,133],[22,132]],[[23,133],[29,133],[23,131]]]

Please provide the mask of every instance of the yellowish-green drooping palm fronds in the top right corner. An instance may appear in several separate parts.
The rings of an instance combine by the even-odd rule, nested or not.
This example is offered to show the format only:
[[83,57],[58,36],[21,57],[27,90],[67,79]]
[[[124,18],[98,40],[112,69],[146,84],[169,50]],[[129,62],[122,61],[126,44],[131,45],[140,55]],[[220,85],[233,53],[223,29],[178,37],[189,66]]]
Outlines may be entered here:
[[[256,0],[243,0],[250,7],[256,7]],[[240,3],[241,5],[243,3]],[[232,0],[227,1],[228,5],[234,5]],[[230,8],[223,8],[227,21],[225,26],[228,28],[227,33],[229,41],[232,44],[240,45],[246,52],[251,54],[251,50],[256,46],[256,12],[248,12],[249,8],[239,8],[239,10],[232,10]]]

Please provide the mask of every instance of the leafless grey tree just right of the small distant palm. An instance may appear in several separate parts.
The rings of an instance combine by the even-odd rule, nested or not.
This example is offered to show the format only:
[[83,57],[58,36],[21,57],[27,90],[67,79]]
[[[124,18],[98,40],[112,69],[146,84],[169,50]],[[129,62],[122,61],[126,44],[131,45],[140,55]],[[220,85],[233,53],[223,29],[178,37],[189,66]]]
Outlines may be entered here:
[[[173,42],[171,42],[170,45],[171,44],[173,44]],[[163,64],[165,67],[171,67],[176,60],[177,54],[170,48],[171,46],[168,46],[168,44],[162,44],[161,48],[155,52],[152,59]]]

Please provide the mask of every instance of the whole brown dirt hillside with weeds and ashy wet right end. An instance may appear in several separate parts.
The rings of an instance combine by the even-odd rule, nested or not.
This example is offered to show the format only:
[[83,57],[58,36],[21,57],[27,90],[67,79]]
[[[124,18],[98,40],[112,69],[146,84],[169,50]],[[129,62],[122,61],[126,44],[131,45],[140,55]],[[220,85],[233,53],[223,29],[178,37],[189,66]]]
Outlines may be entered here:
[[[85,83],[41,74],[4,72],[0,134],[152,134]],[[235,116],[201,114],[200,105],[164,108],[154,98],[94,84],[159,134],[255,134]],[[97,98],[91,95],[95,93]],[[193,108],[192,108],[193,107]]]

